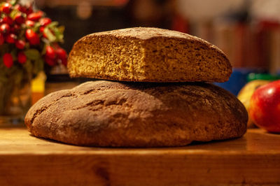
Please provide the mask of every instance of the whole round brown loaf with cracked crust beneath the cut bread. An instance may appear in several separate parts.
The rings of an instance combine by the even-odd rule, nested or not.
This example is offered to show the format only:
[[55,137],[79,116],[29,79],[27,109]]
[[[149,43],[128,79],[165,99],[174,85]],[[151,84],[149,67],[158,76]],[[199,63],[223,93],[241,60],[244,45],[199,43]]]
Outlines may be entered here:
[[34,136],[75,145],[162,147],[237,138],[247,120],[241,102],[216,85],[100,80],[48,94],[25,124]]

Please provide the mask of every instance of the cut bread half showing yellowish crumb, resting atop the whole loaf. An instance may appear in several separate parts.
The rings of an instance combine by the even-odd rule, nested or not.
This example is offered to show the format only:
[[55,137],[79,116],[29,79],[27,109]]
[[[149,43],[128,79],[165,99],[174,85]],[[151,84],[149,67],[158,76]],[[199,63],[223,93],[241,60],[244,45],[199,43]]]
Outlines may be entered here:
[[225,82],[232,66],[216,46],[195,36],[158,28],[90,34],[73,45],[71,77],[139,82]]

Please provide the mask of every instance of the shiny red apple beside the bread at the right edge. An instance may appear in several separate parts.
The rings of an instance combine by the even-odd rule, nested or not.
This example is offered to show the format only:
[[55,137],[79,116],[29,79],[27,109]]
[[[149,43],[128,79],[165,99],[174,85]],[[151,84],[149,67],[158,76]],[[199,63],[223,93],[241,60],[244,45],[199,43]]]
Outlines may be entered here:
[[280,80],[255,90],[251,97],[249,114],[258,127],[280,133]]

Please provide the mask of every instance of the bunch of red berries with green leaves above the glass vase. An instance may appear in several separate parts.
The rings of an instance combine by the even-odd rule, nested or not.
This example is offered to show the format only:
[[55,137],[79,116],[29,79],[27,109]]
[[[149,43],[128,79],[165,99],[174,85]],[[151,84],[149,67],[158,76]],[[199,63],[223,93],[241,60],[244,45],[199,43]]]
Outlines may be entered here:
[[45,64],[66,65],[66,51],[59,47],[63,31],[41,10],[18,1],[0,3],[0,80],[13,71],[36,74]]

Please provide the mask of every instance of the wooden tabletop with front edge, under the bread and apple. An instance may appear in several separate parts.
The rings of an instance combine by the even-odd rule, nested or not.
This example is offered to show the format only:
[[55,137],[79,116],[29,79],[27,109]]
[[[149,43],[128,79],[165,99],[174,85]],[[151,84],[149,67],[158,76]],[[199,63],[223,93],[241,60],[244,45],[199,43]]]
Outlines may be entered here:
[[280,185],[280,135],[181,148],[87,148],[0,127],[0,185]]

